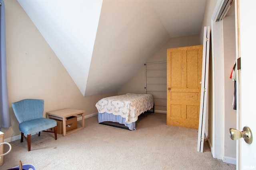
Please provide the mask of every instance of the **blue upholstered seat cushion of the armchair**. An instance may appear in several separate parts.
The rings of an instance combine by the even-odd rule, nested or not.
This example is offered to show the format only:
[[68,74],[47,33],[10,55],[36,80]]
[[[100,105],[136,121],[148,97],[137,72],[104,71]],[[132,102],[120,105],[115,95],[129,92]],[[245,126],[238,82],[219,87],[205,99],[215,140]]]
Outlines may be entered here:
[[27,135],[49,129],[57,126],[57,122],[52,119],[38,118],[33,120],[24,121],[19,124],[20,132]]

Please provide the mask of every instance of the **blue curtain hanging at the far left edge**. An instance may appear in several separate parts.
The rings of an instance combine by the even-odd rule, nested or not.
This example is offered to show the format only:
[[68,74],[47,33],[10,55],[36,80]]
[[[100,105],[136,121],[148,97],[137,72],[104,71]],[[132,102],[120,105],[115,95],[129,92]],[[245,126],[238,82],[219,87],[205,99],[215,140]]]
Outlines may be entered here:
[[10,127],[10,113],[8,103],[7,75],[6,75],[6,44],[5,44],[5,7],[0,0],[0,130]]

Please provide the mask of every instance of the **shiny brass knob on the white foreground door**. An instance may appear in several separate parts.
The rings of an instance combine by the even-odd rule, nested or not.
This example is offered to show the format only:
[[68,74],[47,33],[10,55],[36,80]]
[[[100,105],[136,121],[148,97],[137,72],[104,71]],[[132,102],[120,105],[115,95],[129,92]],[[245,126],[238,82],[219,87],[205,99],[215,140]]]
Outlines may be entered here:
[[248,144],[252,143],[252,131],[249,127],[244,127],[243,131],[240,132],[236,129],[230,128],[229,135],[232,140],[244,138],[244,141]]

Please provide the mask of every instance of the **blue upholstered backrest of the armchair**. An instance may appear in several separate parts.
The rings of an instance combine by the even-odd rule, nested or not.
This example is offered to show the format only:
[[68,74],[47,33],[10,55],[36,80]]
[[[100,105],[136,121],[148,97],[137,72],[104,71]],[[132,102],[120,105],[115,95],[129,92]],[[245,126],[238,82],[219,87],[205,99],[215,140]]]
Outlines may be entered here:
[[14,114],[19,123],[43,117],[44,100],[24,99],[12,103]]

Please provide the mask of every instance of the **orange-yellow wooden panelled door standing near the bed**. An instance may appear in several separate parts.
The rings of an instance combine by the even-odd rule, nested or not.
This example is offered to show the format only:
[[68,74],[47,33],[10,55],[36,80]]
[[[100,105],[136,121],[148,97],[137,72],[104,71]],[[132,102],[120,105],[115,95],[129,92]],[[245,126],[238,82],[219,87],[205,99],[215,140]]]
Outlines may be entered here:
[[203,45],[167,49],[167,125],[198,129]]

